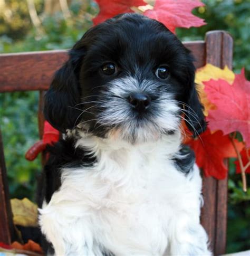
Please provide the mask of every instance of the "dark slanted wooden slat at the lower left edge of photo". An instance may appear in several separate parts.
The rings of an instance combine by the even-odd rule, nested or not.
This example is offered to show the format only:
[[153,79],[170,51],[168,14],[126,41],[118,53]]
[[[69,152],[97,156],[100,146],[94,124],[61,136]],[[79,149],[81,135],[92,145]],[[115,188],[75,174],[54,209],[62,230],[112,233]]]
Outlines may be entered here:
[[0,129],[0,242],[11,244],[14,236],[11,205],[7,185],[3,140]]

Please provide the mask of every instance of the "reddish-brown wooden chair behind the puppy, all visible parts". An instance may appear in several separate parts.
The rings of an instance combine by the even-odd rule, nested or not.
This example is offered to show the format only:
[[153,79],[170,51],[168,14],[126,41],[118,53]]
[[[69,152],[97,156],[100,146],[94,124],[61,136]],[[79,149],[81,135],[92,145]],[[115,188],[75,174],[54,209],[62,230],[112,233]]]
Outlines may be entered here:
[[[206,63],[232,69],[233,40],[223,31],[211,31],[205,41],[185,42],[196,58],[196,68]],[[43,132],[43,94],[50,85],[54,71],[68,59],[66,51],[25,52],[0,54],[0,92],[40,91],[39,131]],[[2,138],[0,136],[0,241],[11,243],[13,222],[9,204],[6,168],[4,163]],[[225,253],[227,227],[227,179],[203,179],[205,204],[201,213],[201,223],[205,227],[210,248],[215,255]]]

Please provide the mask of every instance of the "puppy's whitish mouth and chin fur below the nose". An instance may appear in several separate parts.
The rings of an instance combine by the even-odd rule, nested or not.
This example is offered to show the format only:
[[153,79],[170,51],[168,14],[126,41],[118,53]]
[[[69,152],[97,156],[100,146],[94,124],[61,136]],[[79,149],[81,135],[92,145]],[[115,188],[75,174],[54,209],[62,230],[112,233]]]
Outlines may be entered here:
[[[111,105],[112,106],[112,105]],[[89,135],[112,140],[124,140],[131,144],[156,141],[164,135],[172,135],[179,128],[179,118],[166,111],[162,113],[139,106],[140,111],[133,108],[105,108],[96,118],[84,121],[78,126]]]

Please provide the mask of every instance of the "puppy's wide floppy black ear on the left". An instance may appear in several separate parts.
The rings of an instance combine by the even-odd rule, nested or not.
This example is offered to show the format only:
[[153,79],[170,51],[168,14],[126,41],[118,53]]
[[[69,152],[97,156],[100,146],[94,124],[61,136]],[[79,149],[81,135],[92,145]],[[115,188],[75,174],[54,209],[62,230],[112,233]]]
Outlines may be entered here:
[[56,71],[50,89],[44,97],[44,116],[61,132],[77,125],[81,111],[75,109],[80,102],[81,88],[78,81],[81,54],[70,52],[70,59]]

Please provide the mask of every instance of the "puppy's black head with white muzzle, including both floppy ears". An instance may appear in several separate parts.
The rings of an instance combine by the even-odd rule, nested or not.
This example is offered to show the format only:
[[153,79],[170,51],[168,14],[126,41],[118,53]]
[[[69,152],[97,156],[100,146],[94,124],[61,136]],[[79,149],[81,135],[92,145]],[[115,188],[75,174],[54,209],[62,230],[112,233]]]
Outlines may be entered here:
[[86,130],[135,143],[179,129],[196,136],[206,122],[193,56],[163,24],[118,15],[84,34],[56,72],[45,117],[57,129]]

